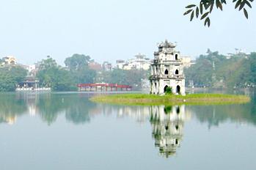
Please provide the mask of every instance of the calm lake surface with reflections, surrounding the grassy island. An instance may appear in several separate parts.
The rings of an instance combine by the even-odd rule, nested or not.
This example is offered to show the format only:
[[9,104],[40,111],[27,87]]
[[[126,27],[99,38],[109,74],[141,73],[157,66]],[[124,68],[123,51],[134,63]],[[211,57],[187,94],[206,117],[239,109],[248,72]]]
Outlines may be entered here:
[[114,106],[0,94],[0,169],[255,169],[256,104]]

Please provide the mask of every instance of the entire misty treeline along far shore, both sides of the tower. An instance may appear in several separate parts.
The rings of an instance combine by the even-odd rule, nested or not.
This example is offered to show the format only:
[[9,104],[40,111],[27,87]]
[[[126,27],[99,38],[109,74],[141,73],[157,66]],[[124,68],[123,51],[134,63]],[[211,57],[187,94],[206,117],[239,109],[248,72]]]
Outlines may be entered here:
[[[54,91],[76,91],[77,84],[100,83],[128,84],[141,89],[142,79],[148,78],[150,70],[96,71],[89,67],[92,59],[83,54],[74,54],[65,59],[65,67],[48,56],[38,62],[36,78],[40,86]],[[244,88],[256,85],[256,53],[236,53],[224,56],[208,50],[200,55],[196,64],[184,70],[186,86],[215,88]],[[20,65],[0,67],[0,92],[12,92],[26,78],[27,70]]]

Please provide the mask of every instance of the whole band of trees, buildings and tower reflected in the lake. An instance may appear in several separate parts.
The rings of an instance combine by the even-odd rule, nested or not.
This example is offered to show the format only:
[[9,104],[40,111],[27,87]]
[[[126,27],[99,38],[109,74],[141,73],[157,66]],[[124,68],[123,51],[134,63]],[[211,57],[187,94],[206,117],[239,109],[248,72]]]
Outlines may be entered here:
[[88,94],[0,94],[0,124],[13,125],[23,115],[37,116],[52,125],[59,115],[75,125],[89,123],[101,114],[117,119],[134,119],[150,123],[158,152],[163,157],[175,155],[183,141],[184,127],[189,119],[197,119],[208,128],[224,122],[256,125],[256,105],[252,103],[227,106],[113,106],[89,102]]

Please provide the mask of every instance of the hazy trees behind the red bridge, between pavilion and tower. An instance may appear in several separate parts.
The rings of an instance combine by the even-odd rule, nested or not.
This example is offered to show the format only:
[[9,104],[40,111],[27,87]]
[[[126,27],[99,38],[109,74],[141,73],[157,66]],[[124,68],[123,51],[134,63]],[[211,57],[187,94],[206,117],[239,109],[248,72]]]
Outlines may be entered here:
[[65,59],[66,67],[56,64],[56,61],[48,56],[40,62],[37,78],[40,86],[51,87],[54,91],[76,90],[77,84],[100,83],[128,84],[134,89],[141,88],[141,80],[149,76],[149,71],[144,70],[120,70],[98,71],[89,68],[91,61],[89,56],[73,54]]

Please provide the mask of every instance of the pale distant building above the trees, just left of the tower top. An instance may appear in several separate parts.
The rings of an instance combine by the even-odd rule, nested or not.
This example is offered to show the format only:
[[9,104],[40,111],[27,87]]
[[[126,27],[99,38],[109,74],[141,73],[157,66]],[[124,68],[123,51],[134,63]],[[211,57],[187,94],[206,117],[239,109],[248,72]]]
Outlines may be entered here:
[[122,70],[149,70],[151,61],[144,54],[138,53],[135,59],[128,59],[128,61],[117,60],[117,68]]

